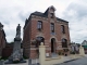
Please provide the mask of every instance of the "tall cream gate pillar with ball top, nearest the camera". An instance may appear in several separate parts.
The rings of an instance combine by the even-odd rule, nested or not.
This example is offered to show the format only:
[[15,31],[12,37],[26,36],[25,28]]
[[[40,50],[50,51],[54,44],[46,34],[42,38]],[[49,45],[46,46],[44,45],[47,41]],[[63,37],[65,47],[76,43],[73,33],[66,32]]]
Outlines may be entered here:
[[39,46],[39,63],[40,65],[45,65],[46,60],[46,47],[41,42],[41,46]]

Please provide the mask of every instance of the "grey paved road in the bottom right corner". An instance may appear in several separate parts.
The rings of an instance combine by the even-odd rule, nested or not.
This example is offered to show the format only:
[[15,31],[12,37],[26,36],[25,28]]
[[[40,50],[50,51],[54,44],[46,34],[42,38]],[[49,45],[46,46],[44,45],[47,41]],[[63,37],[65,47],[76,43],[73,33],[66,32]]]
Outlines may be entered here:
[[87,65],[87,57],[82,57],[79,60],[75,60],[75,61],[66,62],[62,64],[55,64],[55,65]]

